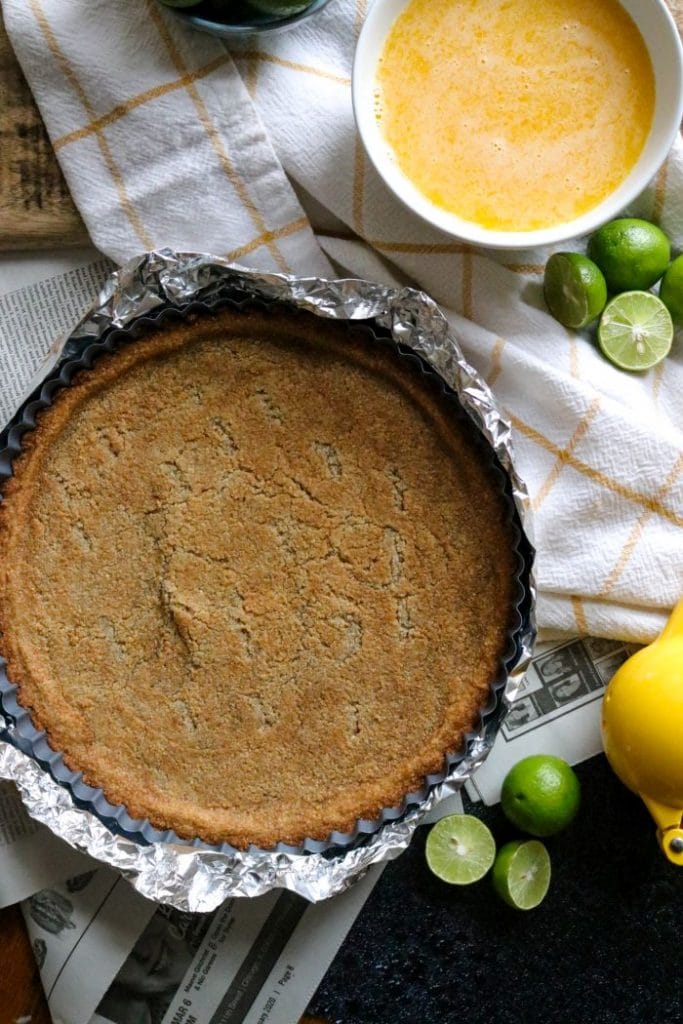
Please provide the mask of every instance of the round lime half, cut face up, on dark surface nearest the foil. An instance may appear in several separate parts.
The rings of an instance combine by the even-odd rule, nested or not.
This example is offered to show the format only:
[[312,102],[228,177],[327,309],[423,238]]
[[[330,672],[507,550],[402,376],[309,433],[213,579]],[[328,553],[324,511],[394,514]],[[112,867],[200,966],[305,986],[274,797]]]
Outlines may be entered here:
[[483,821],[472,814],[450,814],[427,837],[427,864],[438,879],[468,886],[482,879],[496,857],[496,842]]

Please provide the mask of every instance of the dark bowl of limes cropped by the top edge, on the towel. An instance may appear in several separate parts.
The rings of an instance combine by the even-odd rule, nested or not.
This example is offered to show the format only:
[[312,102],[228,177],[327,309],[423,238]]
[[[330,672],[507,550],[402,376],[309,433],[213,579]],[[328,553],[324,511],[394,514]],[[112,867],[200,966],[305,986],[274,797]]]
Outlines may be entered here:
[[330,0],[159,0],[195,29],[224,39],[275,32],[327,7]]

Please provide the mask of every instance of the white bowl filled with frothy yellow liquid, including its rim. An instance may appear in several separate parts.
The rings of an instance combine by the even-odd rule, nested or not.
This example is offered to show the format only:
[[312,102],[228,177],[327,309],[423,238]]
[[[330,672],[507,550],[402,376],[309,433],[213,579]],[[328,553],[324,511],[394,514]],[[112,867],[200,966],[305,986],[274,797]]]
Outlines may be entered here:
[[526,247],[592,229],[647,184],[680,83],[661,0],[389,0],[364,28],[353,91],[403,202],[460,238]]

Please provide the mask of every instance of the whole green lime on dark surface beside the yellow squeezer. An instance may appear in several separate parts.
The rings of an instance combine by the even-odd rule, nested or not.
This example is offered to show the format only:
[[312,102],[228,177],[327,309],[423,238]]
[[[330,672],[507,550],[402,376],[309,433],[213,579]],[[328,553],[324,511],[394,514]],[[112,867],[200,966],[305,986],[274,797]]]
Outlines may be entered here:
[[581,803],[581,786],[570,765],[552,754],[531,754],[510,769],[501,804],[506,817],[531,836],[566,828]]

